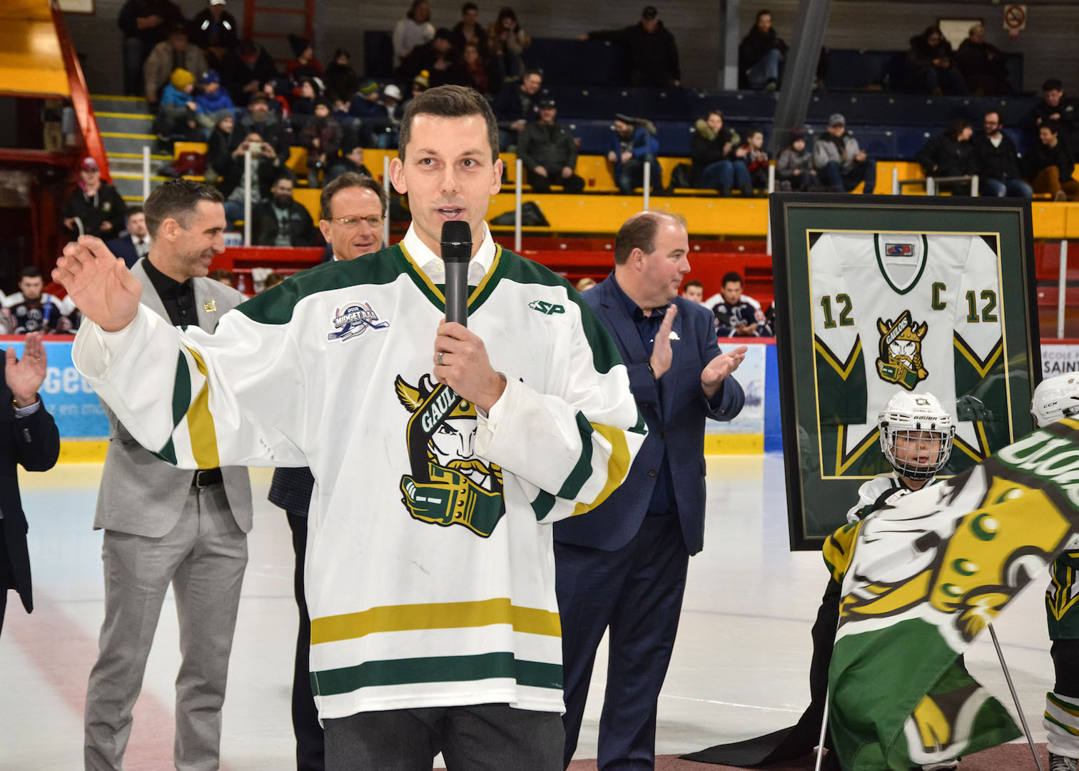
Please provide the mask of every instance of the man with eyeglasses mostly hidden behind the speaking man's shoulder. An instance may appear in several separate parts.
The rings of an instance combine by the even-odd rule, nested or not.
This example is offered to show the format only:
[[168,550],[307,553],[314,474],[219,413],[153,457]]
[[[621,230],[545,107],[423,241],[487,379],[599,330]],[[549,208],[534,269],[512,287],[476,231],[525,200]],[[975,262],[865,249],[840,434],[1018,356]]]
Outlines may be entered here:
[[[342,174],[323,188],[323,216],[318,229],[333,248],[333,260],[352,260],[382,248],[386,191],[371,177]],[[285,510],[296,550],[296,604],[300,628],[296,639],[296,672],[292,678],[292,729],[296,732],[298,771],[323,771],[324,739],[318,711],[311,692],[309,652],[311,618],[303,596],[303,557],[308,547],[308,510],[315,477],[311,469],[276,469],[270,485],[270,502]]]

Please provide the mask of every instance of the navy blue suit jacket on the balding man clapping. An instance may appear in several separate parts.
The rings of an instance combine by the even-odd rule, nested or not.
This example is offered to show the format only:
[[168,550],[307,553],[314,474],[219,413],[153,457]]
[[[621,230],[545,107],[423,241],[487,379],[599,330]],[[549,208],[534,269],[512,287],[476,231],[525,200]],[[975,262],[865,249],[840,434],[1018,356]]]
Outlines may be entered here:
[[700,388],[701,370],[720,354],[712,313],[696,302],[674,298],[678,315],[671,327],[671,367],[663,376],[660,400],[641,335],[618,295],[614,274],[581,298],[596,311],[618,347],[648,435],[622,486],[593,512],[556,523],[555,540],[607,552],[629,543],[647,513],[666,449],[682,537],[689,554],[696,554],[705,545],[705,418],[730,420],[746,398],[734,377],[723,381],[711,404]]

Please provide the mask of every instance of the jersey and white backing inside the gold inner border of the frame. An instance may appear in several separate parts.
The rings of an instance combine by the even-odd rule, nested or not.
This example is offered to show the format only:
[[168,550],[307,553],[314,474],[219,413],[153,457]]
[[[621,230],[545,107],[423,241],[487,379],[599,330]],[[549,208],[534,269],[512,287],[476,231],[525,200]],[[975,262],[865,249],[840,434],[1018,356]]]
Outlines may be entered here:
[[[899,390],[932,393],[956,424],[956,473],[1010,436],[996,234],[809,234],[822,473],[889,466],[877,415]],[[1000,375],[1001,377],[997,377]]]

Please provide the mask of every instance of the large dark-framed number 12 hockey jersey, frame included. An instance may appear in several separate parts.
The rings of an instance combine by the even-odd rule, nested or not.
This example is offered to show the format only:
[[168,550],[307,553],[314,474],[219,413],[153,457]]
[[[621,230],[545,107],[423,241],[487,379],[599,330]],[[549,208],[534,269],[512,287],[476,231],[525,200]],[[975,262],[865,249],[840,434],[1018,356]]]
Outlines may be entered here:
[[891,471],[877,416],[931,393],[956,427],[942,475],[1029,432],[1040,380],[1028,202],[770,197],[792,549],[817,549]]

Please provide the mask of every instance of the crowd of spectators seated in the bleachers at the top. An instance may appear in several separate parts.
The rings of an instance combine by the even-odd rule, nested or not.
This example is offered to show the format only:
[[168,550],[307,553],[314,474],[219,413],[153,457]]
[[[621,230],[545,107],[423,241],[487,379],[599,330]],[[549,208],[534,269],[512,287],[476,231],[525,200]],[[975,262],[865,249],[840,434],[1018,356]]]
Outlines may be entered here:
[[[350,171],[369,174],[363,148],[395,148],[408,99],[445,83],[468,85],[489,97],[498,119],[501,148],[517,152],[524,181],[534,192],[583,192],[586,182],[576,163],[586,151],[605,157],[611,189],[622,193],[640,190],[647,170],[657,194],[685,188],[720,195],[764,194],[770,163],[776,165],[779,190],[848,192],[862,186],[872,192],[875,185],[870,147],[859,143],[858,132],[848,128],[838,112],[817,131],[796,127],[775,160],[765,149],[771,126],[764,116],[757,125],[739,126],[739,133],[725,125],[723,110],[702,117],[698,112],[678,136],[667,127],[669,121],[659,120],[665,116],[652,109],[655,103],[648,98],[633,102],[633,114],[612,110],[605,135],[583,137],[586,127],[577,124],[584,123],[584,105],[560,105],[563,92],[545,83],[543,68],[565,63],[537,50],[509,6],[488,24],[476,3],[465,2],[460,19],[451,25],[433,19],[427,0],[413,0],[385,33],[391,50],[384,65],[372,66],[368,51],[367,69],[380,75],[379,80],[368,77],[364,67],[357,71],[343,49],[333,51],[324,66],[310,41],[297,36],[289,36],[293,58],[278,69],[261,45],[241,38],[224,0],[208,0],[190,21],[170,0],[127,0],[119,25],[128,93],[144,95],[154,107],[163,146],[207,143],[205,160],[197,163],[200,168],[205,164],[206,178],[226,195],[231,220],[243,216],[245,153],[251,150],[259,244],[317,242],[310,216],[292,201],[295,186],[320,187]],[[629,26],[583,33],[578,41],[613,45],[625,54],[626,70],[618,82],[639,86],[633,97],[650,89],[660,98],[667,97],[666,90],[673,90],[672,95],[681,91],[678,43],[655,6],[645,6]],[[760,92],[779,89],[787,52],[770,12],[757,12],[738,50],[739,85]],[[911,39],[910,50],[896,59],[898,66],[888,67],[894,75],[892,85],[906,92],[999,95],[1013,91],[1009,56],[985,41],[981,25],[969,30],[957,50],[930,26]],[[829,59],[829,52],[822,51],[815,89],[825,87]],[[886,71],[885,87],[889,78]],[[916,160],[927,176],[979,175],[982,194],[1075,200],[1076,110],[1060,81],[1046,83],[1043,92],[1030,114],[1017,122],[1024,132],[1024,158],[1000,131],[1001,111],[994,110],[984,117],[984,132],[952,121],[947,131],[921,147]],[[571,116],[569,121],[559,120],[560,106]],[[942,116],[939,124],[946,121]],[[289,168],[299,165],[289,164],[290,147],[305,150],[306,179],[297,179]],[[879,148],[872,153],[893,157]],[[688,158],[665,184],[660,157]],[[965,193],[970,182],[944,181],[938,189]],[[101,228],[115,227],[103,221]]]

